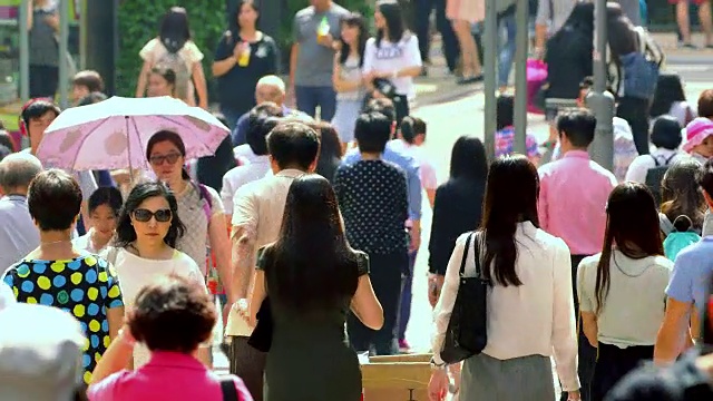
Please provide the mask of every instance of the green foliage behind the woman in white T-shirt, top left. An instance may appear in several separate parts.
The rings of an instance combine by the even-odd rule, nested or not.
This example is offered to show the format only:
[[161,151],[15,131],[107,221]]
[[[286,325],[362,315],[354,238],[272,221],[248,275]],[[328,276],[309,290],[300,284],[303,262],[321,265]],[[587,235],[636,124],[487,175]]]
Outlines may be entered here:
[[193,40],[203,51],[203,68],[211,82],[215,47],[226,29],[225,0],[124,0],[119,7],[119,58],[116,66],[117,95],[134,96],[143,61],[138,56],[147,41],[158,36],[160,20],[174,7],[185,7]]

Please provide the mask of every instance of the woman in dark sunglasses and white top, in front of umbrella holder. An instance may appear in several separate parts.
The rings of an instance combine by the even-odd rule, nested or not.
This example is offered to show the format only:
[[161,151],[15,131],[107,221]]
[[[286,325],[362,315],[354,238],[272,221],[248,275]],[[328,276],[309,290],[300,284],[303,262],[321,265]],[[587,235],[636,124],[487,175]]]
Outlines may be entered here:
[[[205,288],[198,265],[175,248],[186,231],[177,212],[176,197],[162,183],[139,184],[129,193],[119,215],[115,247],[107,251],[107,260],[116,268],[127,305],[134,304],[143,287],[170,274]],[[134,366],[145,364],[149,356],[148,349],[136,346]],[[198,356],[209,364],[209,348],[202,348]]]

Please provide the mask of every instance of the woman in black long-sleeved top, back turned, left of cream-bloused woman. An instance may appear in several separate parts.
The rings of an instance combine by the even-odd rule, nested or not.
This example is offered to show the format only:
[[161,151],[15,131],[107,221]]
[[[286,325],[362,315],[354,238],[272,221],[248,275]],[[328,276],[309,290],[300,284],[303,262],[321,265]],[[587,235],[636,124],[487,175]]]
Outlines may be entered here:
[[436,189],[429,250],[429,301],[436,305],[456,239],[480,225],[488,176],[486,149],[478,138],[458,138],[450,157],[450,178]]

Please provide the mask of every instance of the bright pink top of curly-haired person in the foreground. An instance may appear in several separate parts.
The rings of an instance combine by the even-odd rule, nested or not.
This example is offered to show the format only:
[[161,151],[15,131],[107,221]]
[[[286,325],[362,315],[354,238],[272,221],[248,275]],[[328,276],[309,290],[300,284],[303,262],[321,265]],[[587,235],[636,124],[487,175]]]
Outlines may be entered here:
[[[243,381],[233,376],[238,401],[253,401]],[[87,390],[90,401],[222,401],[221,379],[195,358],[154,351],[147,364],[123,370]]]

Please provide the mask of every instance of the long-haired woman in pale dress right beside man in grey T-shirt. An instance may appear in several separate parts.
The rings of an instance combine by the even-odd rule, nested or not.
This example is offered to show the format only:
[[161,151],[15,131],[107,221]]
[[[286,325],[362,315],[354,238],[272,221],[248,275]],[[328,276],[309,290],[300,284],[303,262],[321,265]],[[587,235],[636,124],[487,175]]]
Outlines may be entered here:
[[367,91],[361,69],[364,66],[368,38],[367,21],[360,13],[352,12],[342,18],[341,49],[334,57],[332,77],[336,91],[336,111],[332,125],[339,134],[342,149],[346,149],[354,140],[356,117],[364,106]]

